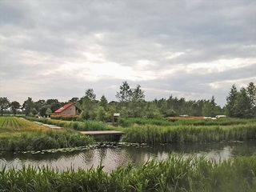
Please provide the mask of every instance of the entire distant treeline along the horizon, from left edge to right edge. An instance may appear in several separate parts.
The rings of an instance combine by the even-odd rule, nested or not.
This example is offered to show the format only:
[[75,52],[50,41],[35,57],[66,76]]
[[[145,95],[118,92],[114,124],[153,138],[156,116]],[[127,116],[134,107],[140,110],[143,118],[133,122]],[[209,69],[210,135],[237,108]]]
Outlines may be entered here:
[[[93,89],[88,89],[82,98],[71,98],[82,111],[81,119],[110,121],[114,113],[120,113],[122,118],[166,118],[187,114],[190,116],[215,117],[218,114],[227,114],[235,118],[256,118],[256,87],[253,82],[237,90],[233,85],[226,98],[226,106],[221,107],[215,103],[214,96],[209,100],[198,101],[170,96],[169,98],[145,101],[141,86],[130,88],[128,82],[122,82],[116,98],[118,102],[108,102],[106,97],[96,100]],[[1,114],[25,114],[26,116],[49,116],[67,102],[58,102],[58,99],[40,99],[34,102],[28,98],[22,105],[16,101],[10,102],[8,98],[0,98]]]

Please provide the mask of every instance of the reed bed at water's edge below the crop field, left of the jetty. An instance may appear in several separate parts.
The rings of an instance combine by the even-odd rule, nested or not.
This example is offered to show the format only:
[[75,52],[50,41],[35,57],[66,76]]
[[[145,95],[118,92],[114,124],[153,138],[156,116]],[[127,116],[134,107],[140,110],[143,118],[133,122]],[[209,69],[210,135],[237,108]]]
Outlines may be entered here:
[[94,139],[68,130],[48,130],[5,134],[0,137],[0,151],[49,150],[64,147],[88,146]]

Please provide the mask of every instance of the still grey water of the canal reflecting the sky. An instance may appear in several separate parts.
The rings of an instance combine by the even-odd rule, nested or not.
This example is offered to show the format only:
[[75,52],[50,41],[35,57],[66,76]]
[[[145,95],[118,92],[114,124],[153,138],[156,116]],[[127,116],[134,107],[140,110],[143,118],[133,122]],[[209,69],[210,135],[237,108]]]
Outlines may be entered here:
[[159,146],[126,146],[123,144],[99,144],[92,149],[51,151],[36,153],[0,153],[0,170],[3,166],[7,169],[21,168],[23,165],[51,166],[56,170],[66,170],[72,167],[90,169],[91,167],[104,166],[110,172],[118,166],[134,162],[142,164],[150,159],[162,160],[169,154],[204,155],[214,161],[256,154],[256,141],[225,142],[210,144],[172,144]]

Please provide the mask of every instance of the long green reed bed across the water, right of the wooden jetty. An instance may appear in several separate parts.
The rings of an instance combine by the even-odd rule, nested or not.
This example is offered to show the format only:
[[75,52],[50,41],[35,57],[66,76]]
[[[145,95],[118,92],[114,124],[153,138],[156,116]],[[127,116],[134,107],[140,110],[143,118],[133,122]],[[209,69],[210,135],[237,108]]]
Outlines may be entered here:
[[222,142],[256,139],[256,125],[238,126],[133,126],[126,128],[123,142],[149,144]]

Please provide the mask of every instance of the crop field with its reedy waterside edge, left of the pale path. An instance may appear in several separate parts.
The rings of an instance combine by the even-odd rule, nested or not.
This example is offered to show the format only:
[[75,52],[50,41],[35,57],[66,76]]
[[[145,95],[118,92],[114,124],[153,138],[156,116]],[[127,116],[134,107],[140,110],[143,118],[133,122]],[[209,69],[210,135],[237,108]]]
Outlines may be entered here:
[[94,139],[71,130],[50,130],[14,117],[0,118],[0,141],[0,151],[47,150],[94,143]]

